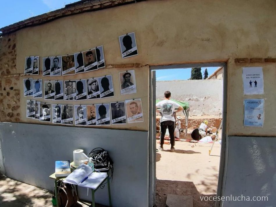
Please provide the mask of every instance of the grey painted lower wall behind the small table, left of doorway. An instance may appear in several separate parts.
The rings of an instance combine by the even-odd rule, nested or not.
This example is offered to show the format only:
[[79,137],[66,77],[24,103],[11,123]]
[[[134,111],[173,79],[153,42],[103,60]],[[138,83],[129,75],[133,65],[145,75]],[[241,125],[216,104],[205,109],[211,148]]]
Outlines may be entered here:
[[[102,147],[114,161],[112,206],[148,206],[148,132],[0,123],[0,144],[7,177],[47,190],[53,190],[49,175],[56,160],[73,161],[75,149],[88,154]],[[87,197],[79,190],[80,198],[91,200],[91,191]],[[108,205],[107,186],[95,198]]]

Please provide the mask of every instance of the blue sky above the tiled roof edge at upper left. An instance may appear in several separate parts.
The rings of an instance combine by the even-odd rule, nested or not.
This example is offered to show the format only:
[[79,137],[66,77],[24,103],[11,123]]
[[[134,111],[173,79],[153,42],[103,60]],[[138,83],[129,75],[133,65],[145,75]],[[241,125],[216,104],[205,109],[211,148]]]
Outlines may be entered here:
[[1,2],[0,28],[30,17],[63,8],[78,0],[14,0]]

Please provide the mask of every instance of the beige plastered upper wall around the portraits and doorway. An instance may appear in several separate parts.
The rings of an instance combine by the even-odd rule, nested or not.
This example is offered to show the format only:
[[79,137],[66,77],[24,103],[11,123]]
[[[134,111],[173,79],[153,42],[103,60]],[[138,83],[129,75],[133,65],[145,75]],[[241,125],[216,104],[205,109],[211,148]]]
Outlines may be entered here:
[[[273,116],[276,102],[275,63],[236,64],[234,59],[275,57],[275,8],[274,0],[204,3],[151,0],[64,17],[16,32],[16,73],[23,73],[25,56],[39,55],[42,59],[45,56],[74,53],[98,45],[104,46],[107,65],[138,63],[145,66],[225,61],[228,71],[227,134],[272,136],[276,134]],[[118,36],[132,31],[135,31],[139,55],[122,59]],[[264,67],[264,95],[243,96],[243,66]],[[121,70],[124,69],[110,68],[91,74],[116,74]],[[143,109],[144,114],[147,114],[148,70],[147,67],[135,69],[135,73],[138,74],[138,71],[141,73],[137,75],[139,88],[135,97],[144,97]],[[79,79],[86,75],[76,75],[70,79]],[[115,78],[114,83],[118,84]],[[115,85],[115,92],[119,95],[118,85]],[[106,101],[122,100],[123,97],[130,98],[116,96]],[[251,97],[265,98],[265,122],[262,128],[243,127],[243,99]],[[21,113],[24,114],[26,100],[23,97],[20,105],[23,107],[20,109]],[[145,120],[147,119],[146,115]],[[27,120],[22,116],[21,121]],[[145,121],[139,127],[131,126],[129,129],[145,130],[147,127],[148,121]]]

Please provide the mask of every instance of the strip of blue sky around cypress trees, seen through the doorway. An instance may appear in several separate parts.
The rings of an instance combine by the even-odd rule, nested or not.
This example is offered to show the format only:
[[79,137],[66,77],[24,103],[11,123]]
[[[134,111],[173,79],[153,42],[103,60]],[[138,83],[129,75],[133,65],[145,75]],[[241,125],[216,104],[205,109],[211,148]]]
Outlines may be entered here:
[[[203,67],[201,68],[202,78],[204,77],[204,71],[207,68],[208,77],[214,73],[219,67]],[[166,69],[156,70],[156,80],[187,80],[191,78],[191,68],[185,69]]]

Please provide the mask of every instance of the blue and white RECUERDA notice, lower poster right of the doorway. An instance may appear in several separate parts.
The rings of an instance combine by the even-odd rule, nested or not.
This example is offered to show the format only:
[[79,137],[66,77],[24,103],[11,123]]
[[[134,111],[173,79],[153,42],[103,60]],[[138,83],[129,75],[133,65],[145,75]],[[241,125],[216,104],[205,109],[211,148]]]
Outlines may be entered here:
[[264,99],[244,99],[245,127],[262,127],[264,125]]

